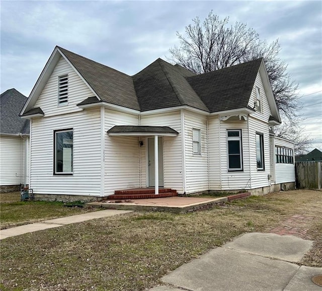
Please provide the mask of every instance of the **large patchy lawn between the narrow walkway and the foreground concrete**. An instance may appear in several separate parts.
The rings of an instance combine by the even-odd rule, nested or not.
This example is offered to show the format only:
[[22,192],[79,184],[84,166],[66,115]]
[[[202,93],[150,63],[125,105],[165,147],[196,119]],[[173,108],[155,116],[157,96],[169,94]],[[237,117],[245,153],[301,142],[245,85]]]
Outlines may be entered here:
[[294,214],[314,216],[303,260],[322,266],[322,192],[252,196],[189,214],[132,212],[2,241],[2,290],[144,290],[160,277],[245,232]]

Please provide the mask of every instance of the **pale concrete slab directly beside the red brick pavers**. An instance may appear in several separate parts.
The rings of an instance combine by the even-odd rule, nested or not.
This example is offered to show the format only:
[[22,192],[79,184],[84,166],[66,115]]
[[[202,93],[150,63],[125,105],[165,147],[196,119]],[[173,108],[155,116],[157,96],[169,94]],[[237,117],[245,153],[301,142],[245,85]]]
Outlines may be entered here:
[[223,247],[297,263],[311,248],[312,244],[313,241],[303,240],[295,236],[249,233],[236,238]]

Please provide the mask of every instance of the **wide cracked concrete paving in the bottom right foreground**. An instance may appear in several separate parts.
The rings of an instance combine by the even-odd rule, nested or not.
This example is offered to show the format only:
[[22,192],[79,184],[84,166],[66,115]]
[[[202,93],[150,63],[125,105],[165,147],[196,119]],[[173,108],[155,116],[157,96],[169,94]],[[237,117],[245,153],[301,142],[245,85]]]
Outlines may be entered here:
[[311,277],[322,268],[299,266],[312,241],[295,236],[250,233],[162,278],[151,291],[287,290],[322,291]]

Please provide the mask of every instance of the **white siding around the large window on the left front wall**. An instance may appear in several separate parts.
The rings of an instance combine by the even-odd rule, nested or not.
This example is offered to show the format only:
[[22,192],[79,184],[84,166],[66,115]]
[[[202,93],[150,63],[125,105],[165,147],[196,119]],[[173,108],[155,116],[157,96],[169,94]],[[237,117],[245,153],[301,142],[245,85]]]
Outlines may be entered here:
[[[53,175],[54,130],[73,128],[73,175]],[[34,118],[31,188],[35,194],[100,195],[100,109]]]

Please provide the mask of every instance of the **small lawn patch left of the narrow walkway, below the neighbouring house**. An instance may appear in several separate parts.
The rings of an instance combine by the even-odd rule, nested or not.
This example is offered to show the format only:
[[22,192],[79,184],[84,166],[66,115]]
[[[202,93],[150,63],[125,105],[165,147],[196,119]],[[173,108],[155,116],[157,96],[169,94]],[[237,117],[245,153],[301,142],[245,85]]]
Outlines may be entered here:
[[93,211],[63,205],[63,202],[20,201],[20,192],[1,193],[1,229]]

